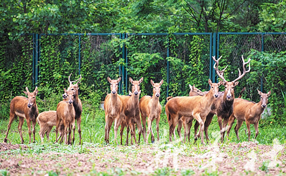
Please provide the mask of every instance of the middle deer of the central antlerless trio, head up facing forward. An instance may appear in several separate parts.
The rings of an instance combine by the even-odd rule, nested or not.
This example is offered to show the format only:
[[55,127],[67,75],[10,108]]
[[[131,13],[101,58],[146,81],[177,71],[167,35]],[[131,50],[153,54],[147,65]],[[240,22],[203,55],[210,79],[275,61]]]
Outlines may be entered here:
[[121,145],[122,145],[123,130],[125,127],[127,128],[126,145],[128,145],[129,130],[130,130],[130,135],[131,135],[131,145],[133,145],[133,141],[132,141],[133,138],[134,138],[135,144],[137,145],[136,136],[135,136],[135,123],[139,130],[139,133],[143,133],[143,138],[145,141],[145,133],[142,129],[141,119],[139,115],[139,95],[141,93],[140,83],[143,81],[143,77],[141,77],[139,81],[133,81],[133,79],[129,77],[129,81],[132,85],[131,95],[121,95],[121,98],[124,102],[124,110],[121,113],[121,115],[123,116],[123,120],[121,122],[121,129],[120,129]]

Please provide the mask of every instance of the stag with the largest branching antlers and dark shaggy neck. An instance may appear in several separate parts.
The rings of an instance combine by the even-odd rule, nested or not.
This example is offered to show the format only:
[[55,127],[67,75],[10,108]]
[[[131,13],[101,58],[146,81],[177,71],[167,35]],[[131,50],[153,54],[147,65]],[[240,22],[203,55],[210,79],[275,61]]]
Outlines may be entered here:
[[[223,71],[219,71],[218,65],[219,60],[222,58],[219,57],[218,59],[215,59],[215,56],[212,56],[212,59],[215,61],[215,64],[213,68],[216,70],[217,75],[223,80],[223,85],[225,86],[225,91],[219,92],[218,98],[215,99],[215,101],[212,103],[210,113],[206,117],[206,124],[205,124],[205,133],[206,133],[206,140],[209,140],[208,138],[208,126],[210,125],[212,121],[212,117],[216,114],[218,117],[218,123],[221,133],[221,143],[223,142],[227,123],[229,121],[229,117],[233,113],[233,101],[235,99],[234,96],[234,87],[238,85],[239,79],[241,79],[246,73],[250,72],[250,61],[251,59],[248,59],[247,62],[244,61],[243,55],[241,55],[242,63],[243,63],[243,73],[241,74],[240,69],[239,76],[233,80],[233,81],[227,81],[223,76]],[[249,64],[249,69],[246,70],[245,66]],[[195,124],[195,133],[198,129],[198,124]]]

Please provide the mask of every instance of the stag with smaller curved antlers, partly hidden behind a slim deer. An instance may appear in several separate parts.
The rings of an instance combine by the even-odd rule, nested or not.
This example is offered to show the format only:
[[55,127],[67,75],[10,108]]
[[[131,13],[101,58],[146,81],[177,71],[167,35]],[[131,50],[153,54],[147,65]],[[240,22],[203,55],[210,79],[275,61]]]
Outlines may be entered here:
[[[80,78],[75,80],[75,81],[71,81],[70,80],[70,77],[71,77],[72,73],[69,75],[69,87],[67,88],[67,91],[73,91],[74,92],[74,101],[73,101],[73,106],[74,106],[74,109],[76,111],[76,117],[75,117],[75,120],[76,120],[76,123],[77,123],[77,126],[78,126],[78,134],[80,136],[80,144],[81,144],[81,141],[82,141],[82,135],[81,135],[81,128],[80,128],[80,124],[82,122],[82,102],[80,101],[79,97],[78,97],[78,83],[80,82],[80,80],[82,79],[82,75],[80,75]],[[78,81],[78,82],[76,82]],[[76,82],[76,84],[73,84],[74,82]],[[65,94],[63,95],[63,98],[65,98]],[[76,129],[76,126],[73,127],[73,138],[72,138],[72,143],[74,143],[74,131]]]

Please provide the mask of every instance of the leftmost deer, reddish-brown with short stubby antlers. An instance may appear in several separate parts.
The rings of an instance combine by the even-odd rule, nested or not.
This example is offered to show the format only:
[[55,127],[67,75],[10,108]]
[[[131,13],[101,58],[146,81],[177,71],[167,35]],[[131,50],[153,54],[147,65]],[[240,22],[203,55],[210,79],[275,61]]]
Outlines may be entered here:
[[[19,125],[18,131],[21,137],[21,143],[24,143],[23,136],[22,136],[22,125],[24,123],[24,118],[27,121],[28,130],[29,130],[29,143],[31,143],[31,133],[33,131],[33,142],[35,142],[35,125],[37,122],[37,117],[39,114],[38,107],[36,104],[36,95],[39,92],[37,90],[38,87],[35,87],[35,90],[30,93],[28,87],[26,87],[26,91],[23,91],[28,98],[22,96],[16,96],[11,100],[10,103],[10,119],[8,123],[8,129],[6,132],[6,136],[3,142],[7,143],[7,137],[9,133],[9,129],[13,120],[18,116],[19,117]],[[32,131],[31,131],[31,122],[32,122]]]

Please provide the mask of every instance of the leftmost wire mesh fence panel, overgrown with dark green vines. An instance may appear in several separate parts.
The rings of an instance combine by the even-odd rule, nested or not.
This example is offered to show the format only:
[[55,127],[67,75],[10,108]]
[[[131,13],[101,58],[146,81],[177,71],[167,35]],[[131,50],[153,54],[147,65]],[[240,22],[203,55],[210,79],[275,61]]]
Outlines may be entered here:
[[33,91],[33,36],[0,35],[0,65],[1,100],[24,95],[25,87]]

